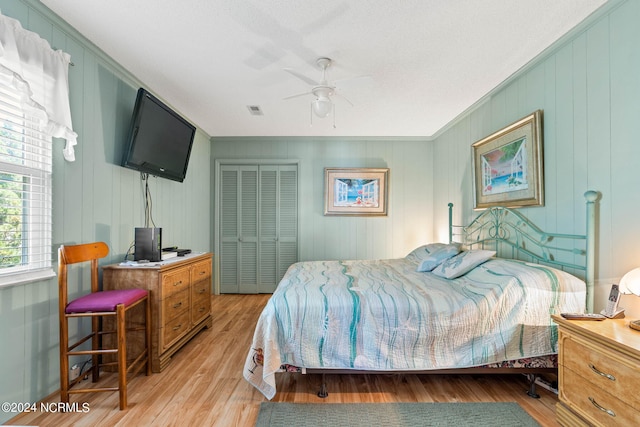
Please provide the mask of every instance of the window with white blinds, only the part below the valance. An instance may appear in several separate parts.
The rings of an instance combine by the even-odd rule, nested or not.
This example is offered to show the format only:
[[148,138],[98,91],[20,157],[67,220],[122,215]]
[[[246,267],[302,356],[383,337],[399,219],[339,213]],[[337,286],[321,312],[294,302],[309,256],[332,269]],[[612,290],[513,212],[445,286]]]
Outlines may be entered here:
[[0,286],[53,276],[51,136],[21,96],[0,81]]

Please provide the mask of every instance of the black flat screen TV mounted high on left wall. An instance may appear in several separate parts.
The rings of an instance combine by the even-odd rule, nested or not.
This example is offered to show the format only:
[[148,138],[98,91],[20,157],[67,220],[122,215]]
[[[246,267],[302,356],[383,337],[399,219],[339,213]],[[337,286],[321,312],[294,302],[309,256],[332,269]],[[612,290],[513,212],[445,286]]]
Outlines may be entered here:
[[195,132],[195,126],[140,88],[122,166],[182,182]]

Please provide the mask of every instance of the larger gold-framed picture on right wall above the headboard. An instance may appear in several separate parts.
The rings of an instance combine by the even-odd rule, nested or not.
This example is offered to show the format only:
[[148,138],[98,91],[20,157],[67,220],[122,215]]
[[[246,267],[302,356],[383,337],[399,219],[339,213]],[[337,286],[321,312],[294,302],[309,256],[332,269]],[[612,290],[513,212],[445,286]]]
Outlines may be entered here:
[[475,209],[544,206],[542,110],[472,145]]

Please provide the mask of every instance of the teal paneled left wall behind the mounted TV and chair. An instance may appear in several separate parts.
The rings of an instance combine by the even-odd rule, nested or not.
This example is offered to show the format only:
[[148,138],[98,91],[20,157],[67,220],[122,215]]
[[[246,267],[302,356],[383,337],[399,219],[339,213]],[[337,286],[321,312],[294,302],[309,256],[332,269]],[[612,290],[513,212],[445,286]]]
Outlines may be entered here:
[[[6,16],[71,54],[76,161],[54,143],[53,245],[95,240],[123,259],[144,225],[137,172],[119,166],[137,88],[143,86],[39,2],[0,0]],[[148,88],[151,91],[154,88]],[[184,183],[150,178],[153,219],[163,242],[210,251],[210,138],[198,130]],[[57,255],[53,254],[54,268]],[[74,284],[72,284],[74,286]],[[59,389],[57,279],[0,289],[0,401],[37,402]],[[15,415],[15,414],[13,414]],[[12,414],[0,413],[0,422]]]

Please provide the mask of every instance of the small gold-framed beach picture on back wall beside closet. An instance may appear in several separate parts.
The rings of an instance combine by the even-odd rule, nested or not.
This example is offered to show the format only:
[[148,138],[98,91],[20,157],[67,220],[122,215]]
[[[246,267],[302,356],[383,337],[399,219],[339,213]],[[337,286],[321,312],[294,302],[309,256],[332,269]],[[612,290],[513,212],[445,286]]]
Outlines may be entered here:
[[325,168],[325,215],[387,215],[389,169]]

